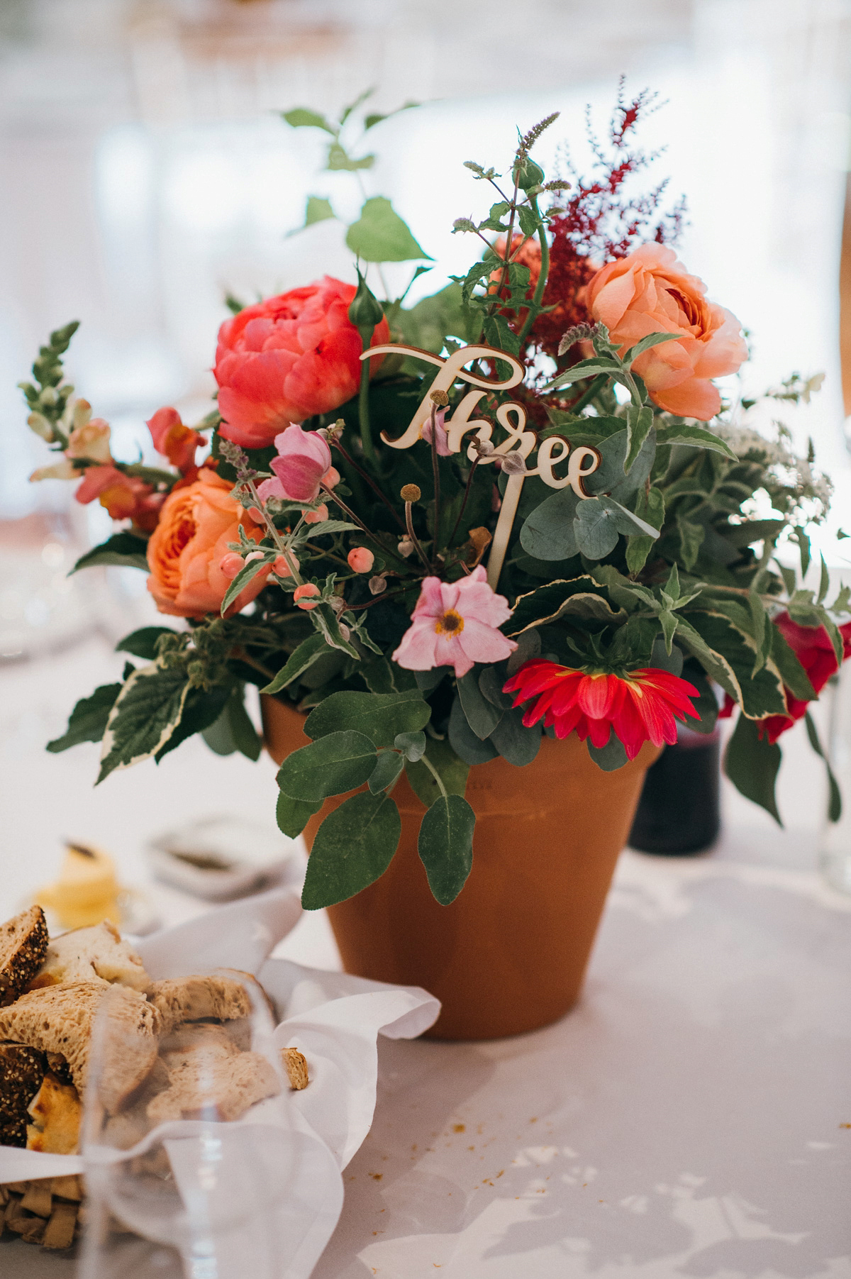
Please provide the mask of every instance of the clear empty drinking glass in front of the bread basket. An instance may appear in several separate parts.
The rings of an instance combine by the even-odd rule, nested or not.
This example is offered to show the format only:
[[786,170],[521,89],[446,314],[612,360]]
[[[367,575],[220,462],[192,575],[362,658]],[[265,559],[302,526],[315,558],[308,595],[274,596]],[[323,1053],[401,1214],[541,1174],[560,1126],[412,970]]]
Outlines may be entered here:
[[[212,998],[207,977],[220,984]],[[234,971],[189,981],[198,986],[160,1037],[134,991],[112,987],[98,1008],[80,1279],[273,1279],[285,1269],[276,1207],[293,1193],[296,1156],[276,1123],[286,1079],[266,996]],[[189,1012],[229,1016],[170,1026],[193,1000]]]

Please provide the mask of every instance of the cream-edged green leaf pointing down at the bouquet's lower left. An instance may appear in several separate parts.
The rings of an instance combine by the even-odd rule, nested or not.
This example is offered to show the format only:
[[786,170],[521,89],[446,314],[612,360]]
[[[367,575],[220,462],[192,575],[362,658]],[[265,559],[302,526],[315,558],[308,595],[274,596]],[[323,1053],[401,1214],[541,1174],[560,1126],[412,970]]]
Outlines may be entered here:
[[97,781],[115,769],[129,769],[156,755],[180,723],[188,692],[189,680],[181,666],[166,670],[156,663],[139,666],[110,711]]

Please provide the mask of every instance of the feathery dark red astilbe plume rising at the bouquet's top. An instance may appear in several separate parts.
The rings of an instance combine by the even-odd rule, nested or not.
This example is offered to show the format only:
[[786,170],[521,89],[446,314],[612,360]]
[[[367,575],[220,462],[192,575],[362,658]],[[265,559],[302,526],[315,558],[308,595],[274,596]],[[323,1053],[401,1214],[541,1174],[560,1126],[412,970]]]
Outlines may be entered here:
[[[645,194],[630,196],[626,180],[647,169],[659,152],[645,152],[631,137],[640,119],[658,109],[657,93],[644,90],[631,102],[624,97],[621,77],[617,105],[608,128],[608,152],[592,130],[586,111],[588,139],[594,155],[593,174],[585,179],[566,159],[572,193],[564,211],[549,224],[549,275],[544,289],[544,311],[532,326],[532,339],[553,359],[566,329],[589,320],[585,286],[594,272],[612,258],[625,257],[639,243],[676,242],[685,217],[681,200],[659,215],[668,185],[667,178]],[[579,358],[574,356],[572,358]],[[562,363],[565,363],[562,361]]]

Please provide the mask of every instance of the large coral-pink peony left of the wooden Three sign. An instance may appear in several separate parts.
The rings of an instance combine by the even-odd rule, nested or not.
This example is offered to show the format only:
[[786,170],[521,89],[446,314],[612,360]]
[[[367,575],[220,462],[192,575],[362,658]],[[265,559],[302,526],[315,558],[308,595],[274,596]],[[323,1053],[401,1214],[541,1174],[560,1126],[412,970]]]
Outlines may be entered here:
[[[360,385],[360,334],[349,321],[354,284],[330,275],[245,307],[218,330],[220,434],[245,449],[271,444],[290,422],[330,413]],[[372,345],[386,343],[387,321]],[[374,373],[379,358],[371,359]]]

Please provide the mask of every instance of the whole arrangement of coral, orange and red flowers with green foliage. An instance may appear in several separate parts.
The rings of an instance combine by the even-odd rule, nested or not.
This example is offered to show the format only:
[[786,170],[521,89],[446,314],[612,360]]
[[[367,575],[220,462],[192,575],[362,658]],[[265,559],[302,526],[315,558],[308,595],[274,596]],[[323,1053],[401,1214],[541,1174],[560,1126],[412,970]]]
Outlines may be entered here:
[[[778,555],[796,542],[806,573],[829,483],[785,427],[751,427],[755,402],[716,386],[747,348],[676,258],[682,206],[662,211],[664,184],[627,196],[652,159],[632,141],[650,101],[618,98],[589,178],[569,165],[547,179],[532,159],[555,115],[519,138],[507,174],[469,161],[493,191],[487,217],[454,225],[474,261],[415,306],[367,283],[388,261],[427,270],[383,197],[346,231],[356,286],[326,276],[252,306],[229,298],[217,402],[195,426],[153,413],[160,467],[112,457],[109,425],[63,380],[77,325],[51,335],[22,388],[60,457],[33,478],[78,480],[77,500],[120,522],[78,569],[143,569],[185,625],[128,636],[119,651],[138,664],[79,701],[50,751],[101,741],[98,781],[195,733],[257,758],[245,686],[286,702],[310,741],[277,775],[280,828],[295,835],[356,792],[318,829],[308,908],[390,865],[402,771],[448,903],[471,865],[470,767],[524,766],[543,735],[575,733],[617,769],[675,742],[678,723],[712,732],[719,701],[737,711],[730,778],[779,820],[777,739],[806,718],[820,752],[808,705],[851,647],[850,592],[828,604],[824,564],[815,592]],[[323,130],[327,166],[353,173],[372,162],[341,141],[355,118],[285,114]],[[308,200],[307,223],[331,216]],[[512,361],[523,380],[506,405],[494,388]],[[796,375],[768,399],[808,398],[815,381]],[[831,803],[837,816],[833,783]]]

